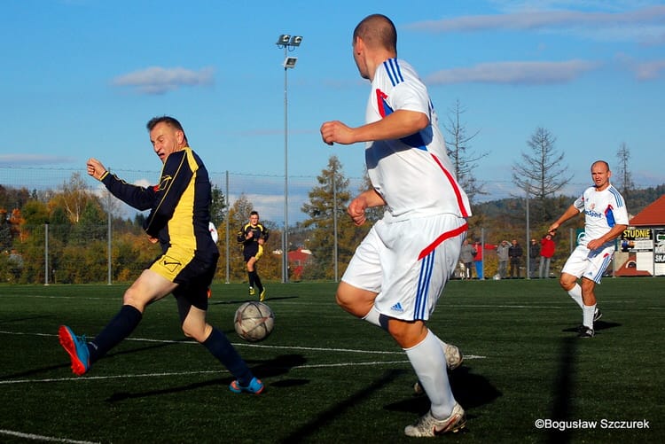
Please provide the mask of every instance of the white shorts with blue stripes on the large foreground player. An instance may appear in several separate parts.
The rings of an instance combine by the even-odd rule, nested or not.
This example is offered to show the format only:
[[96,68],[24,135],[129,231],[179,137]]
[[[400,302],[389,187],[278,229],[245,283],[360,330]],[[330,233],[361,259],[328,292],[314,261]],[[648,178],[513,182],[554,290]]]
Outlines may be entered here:
[[452,214],[380,220],[356,248],[341,280],[376,292],[374,306],[382,315],[426,321],[458,264],[467,228],[464,218]]

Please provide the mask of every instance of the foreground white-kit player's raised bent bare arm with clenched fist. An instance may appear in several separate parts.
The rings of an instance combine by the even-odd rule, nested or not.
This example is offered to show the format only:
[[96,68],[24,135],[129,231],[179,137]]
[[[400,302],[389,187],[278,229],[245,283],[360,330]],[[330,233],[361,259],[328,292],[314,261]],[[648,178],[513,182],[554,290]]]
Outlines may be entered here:
[[326,144],[356,144],[372,140],[399,139],[411,136],[429,125],[429,117],[417,111],[397,110],[380,121],[350,128],[340,121],[321,125],[321,137]]

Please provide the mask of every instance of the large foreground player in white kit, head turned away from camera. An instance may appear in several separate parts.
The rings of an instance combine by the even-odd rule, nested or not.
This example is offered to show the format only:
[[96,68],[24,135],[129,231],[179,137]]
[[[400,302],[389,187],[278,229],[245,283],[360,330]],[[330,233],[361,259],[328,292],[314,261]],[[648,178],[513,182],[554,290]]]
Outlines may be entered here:
[[434,436],[465,425],[446,373],[461,355],[429,331],[426,321],[457,265],[471,209],[451,173],[426,87],[397,58],[396,42],[395,25],[386,16],[374,14],[358,24],[354,59],[360,75],[372,82],[366,123],[321,126],[326,144],[366,143],[372,189],[349,204],[353,221],[364,223],[366,208],[386,208],[356,249],[336,298],[341,308],[382,327],[403,347],[431,401],[430,411],[404,432]]

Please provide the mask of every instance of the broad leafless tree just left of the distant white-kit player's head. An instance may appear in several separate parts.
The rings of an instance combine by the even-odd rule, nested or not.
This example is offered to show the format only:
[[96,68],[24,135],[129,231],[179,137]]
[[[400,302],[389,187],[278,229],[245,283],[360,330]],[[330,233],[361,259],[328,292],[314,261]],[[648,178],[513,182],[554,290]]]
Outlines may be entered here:
[[563,164],[564,153],[554,146],[556,140],[547,129],[537,128],[527,141],[530,152],[522,152],[521,162],[512,165],[512,182],[535,198],[542,221],[552,218],[545,199],[554,197],[573,178]]

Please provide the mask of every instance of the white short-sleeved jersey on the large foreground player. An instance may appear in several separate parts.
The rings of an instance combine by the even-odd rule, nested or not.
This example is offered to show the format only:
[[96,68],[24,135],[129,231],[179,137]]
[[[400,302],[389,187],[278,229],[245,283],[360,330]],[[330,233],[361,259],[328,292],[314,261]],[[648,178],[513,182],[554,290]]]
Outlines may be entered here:
[[471,207],[453,173],[426,86],[411,65],[390,58],[374,74],[365,120],[379,121],[397,110],[425,113],[430,124],[403,139],[366,144],[367,172],[386,201],[388,214],[395,219],[433,214],[469,217]]

